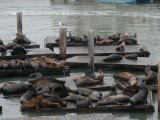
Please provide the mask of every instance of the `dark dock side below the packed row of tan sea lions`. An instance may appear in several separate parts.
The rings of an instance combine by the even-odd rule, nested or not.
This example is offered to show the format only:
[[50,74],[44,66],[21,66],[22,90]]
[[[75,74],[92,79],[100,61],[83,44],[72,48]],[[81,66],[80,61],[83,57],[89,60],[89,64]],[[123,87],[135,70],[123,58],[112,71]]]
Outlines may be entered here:
[[[13,77],[13,76],[28,76],[31,73],[40,72],[46,76],[53,75],[69,75],[70,68],[67,66],[61,68],[39,68],[39,69],[10,69],[10,70],[0,70],[0,77]],[[9,76],[8,76],[9,75]]]

